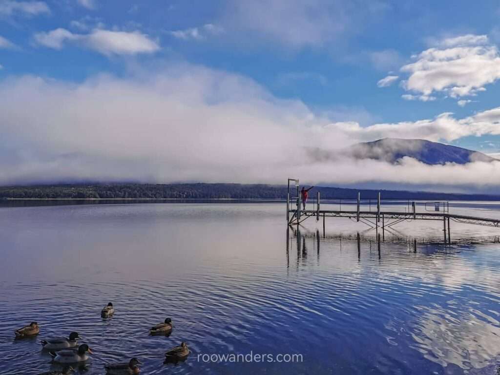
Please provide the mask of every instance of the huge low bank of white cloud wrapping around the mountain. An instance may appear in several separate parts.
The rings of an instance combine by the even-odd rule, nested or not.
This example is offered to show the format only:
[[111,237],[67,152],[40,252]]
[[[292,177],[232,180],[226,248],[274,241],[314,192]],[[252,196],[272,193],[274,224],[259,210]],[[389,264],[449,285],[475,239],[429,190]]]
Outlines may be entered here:
[[77,84],[11,77],[0,81],[0,102],[2,184],[78,179],[274,183],[293,174],[335,184],[498,186],[500,162],[332,162],[307,150],[338,150],[386,136],[449,141],[500,134],[500,107],[465,118],[443,113],[363,127],[331,122],[240,75],[186,64],[126,78],[100,75]]

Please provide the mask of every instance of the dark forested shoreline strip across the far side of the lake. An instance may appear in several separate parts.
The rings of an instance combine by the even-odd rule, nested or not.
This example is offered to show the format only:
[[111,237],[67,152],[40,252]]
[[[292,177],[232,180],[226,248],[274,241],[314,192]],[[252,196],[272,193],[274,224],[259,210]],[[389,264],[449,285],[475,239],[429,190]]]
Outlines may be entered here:
[[[378,190],[351,189],[340,187],[315,187],[309,196],[316,196],[320,191],[322,198],[355,199],[361,192],[362,199],[376,199]],[[293,194],[295,186],[290,187]],[[486,194],[445,194],[438,192],[380,190],[384,199],[456,199],[456,200],[500,200],[499,195]],[[176,183],[176,184],[142,184],[142,183],[95,183],[95,184],[58,184],[38,186],[3,186],[0,187],[0,198],[30,199],[285,199],[285,185],[238,184],[238,183]]]

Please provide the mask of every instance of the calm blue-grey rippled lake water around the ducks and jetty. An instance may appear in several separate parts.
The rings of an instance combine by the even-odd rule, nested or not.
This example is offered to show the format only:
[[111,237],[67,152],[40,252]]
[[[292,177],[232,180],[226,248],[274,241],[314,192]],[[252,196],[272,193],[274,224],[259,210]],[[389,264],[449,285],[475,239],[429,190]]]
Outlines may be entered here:
[[[500,217],[500,204],[450,212]],[[361,223],[287,230],[284,214],[278,203],[0,207],[0,373],[57,368],[39,341],[76,330],[94,351],[86,374],[131,356],[145,374],[496,374],[500,228],[451,222],[443,244],[442,222],[402,222],[378,251]],[[148,336],[165,317],[172,334]],[[32,320],[40,334],[14,340]],[[163,364],[180,341],[191,355]],[[302,361],[198,360],[230,353]]]

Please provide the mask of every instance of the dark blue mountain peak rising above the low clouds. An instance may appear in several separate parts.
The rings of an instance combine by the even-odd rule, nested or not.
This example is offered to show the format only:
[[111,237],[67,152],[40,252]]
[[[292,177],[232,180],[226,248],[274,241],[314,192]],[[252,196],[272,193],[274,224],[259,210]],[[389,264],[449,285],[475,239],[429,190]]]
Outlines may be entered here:
[[357,143],[349,147],[347,154],[356,159],[376,159],[397,163],[404,156],[425,164],[453,162],[466,164],[471,161],[497,160],[484,153],[424,139],[383,138],[372,142]]

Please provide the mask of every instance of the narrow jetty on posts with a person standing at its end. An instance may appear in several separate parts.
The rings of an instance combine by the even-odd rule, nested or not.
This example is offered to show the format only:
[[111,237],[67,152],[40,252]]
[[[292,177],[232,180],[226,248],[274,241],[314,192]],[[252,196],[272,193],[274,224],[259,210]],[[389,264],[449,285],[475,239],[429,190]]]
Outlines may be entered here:
[[[296,186],[296,196],[291,196],[290,194],[290,181],[293,181]],[[321,204],[325,202],[328,205],[327,209],[322,209]],[[338,203],[337,203],[338,202]],[[386,228],[390,228],[397,223],[404,220],[436,220],[442,221],[444,238],[446,239],[446,232],[448,234],[448,240],[450,237],[450,221],[474,224],[474,225],[485,225],[500,228],[500,219],[487,218],[487,217],[476,217],[467,215],[458,215],[449,212],[449,202],[447,200],[435,200],[435,201],[422,201],[422,200],[411,200],[411,199],[390,199],[387,205],[394,206],[397,203],[400,204],[405,202],[407,208],[404,211],[397,211],[395,209],[382,210],[381,196],[378,192],[378,196],[373,204],[371,199],[361,200],[360,193],[357,194],[356,200],[344,200],[349,206],[355,206],[355,209],[342,209],[342,200],[338,198],[323,198],[320,200],[319,191],[317,191],[316,197],[308,199],[306,208],[303,209],[301,202],[301,194],[299,190],[298,179],[288,178],[288,195],[286,199],[286,221],[289,225],[300,224],[309,217],[315,217],[316,221],[320,218],[323,219],[323,231],[325,225],[326,217],[346,217],[356,222],[362,222],[371,228],[382,230],[382,236]],[[331,209],[331,206],[338,204],[338,209]],[[373,206],[373,210],[372,210]],[[365,208],[368,208],[366,210]],[[423,209],[422,209],[423,207]]]

